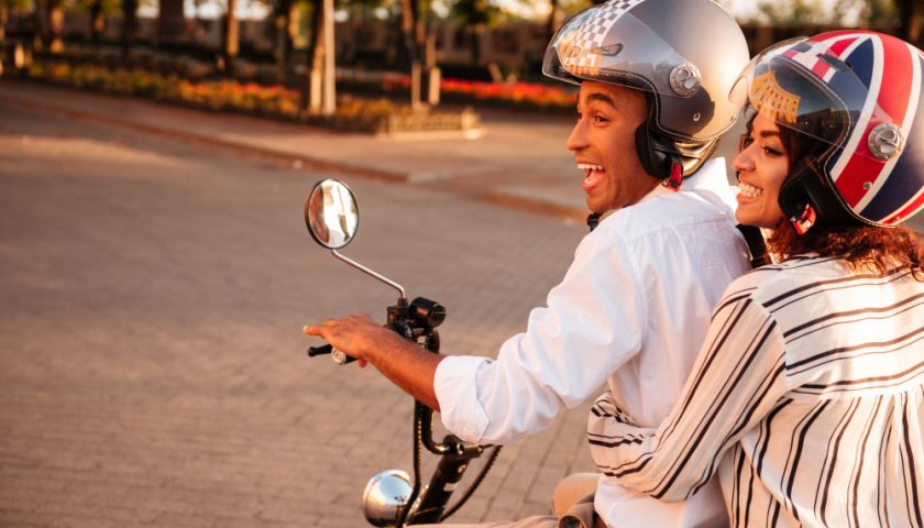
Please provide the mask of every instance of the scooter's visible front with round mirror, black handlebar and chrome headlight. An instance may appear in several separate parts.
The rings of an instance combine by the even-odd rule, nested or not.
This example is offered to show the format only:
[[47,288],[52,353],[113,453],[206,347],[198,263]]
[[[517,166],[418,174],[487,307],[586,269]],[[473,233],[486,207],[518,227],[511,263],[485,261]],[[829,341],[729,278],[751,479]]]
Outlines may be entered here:
[[[403,286],[339,252],[356,235],[359,220],[355,197],[342,182],[318,182],[305,201],[305,223],[318,244],[330,250],[338,260],[398,290],[397,302],[387,308],[385,326],[424,349],[435,354],[439,353],[440,337],[436,328],[446,320],[446,308],[422,297],[408,302]],[[311,358],[322,354],[330,354],[333,361],[341,365],[354,361],[330,344],[308,349],[308,355]],[[441,522],[465,504],[487,475],[499,453],[499,447],[466,443],[452,435],[446,436],[442,442],[436,442],[432,422],[433,410],[415,400],[414,479],[400,470],[385,470],[369,481],[363,492],[363,514],[372,526],[402,528]],[[421,444],[440,457],[426,486],[421,485],[420,476]],[[480,474],[461,498],[452,507],[448,507],[449,499],[471,461],[481,457],[488,448],[491,453]]]

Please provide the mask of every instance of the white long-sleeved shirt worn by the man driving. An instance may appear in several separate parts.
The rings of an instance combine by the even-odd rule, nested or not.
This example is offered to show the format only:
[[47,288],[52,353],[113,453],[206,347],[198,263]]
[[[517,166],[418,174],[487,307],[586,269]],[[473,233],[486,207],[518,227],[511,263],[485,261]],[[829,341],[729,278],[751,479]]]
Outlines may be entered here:
[[[547,307],[496,361],[446,358],[436,393],[443,425],[472,442],[506,443],[551,425],[608,383],[640,424],[660,424],[676,402],[705,338],[713,306],[749,268],[735,229],[722,158],[658,186],[584,237]],[[717,486],[661,503],[602,479],[595,507],[610,526],[724,525]],[[717,522],[716,522],[717,521]]]

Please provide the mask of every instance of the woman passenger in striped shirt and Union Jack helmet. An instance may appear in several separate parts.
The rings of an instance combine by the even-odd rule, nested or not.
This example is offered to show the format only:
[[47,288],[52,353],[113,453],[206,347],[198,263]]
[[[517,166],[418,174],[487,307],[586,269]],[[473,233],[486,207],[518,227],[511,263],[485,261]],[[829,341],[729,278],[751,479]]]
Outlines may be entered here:
[[680,501],[718,472],[733,526],[924,526],[924,242],[894,227],[924,207],[922,70],[859,31],[746,69],[736,216],[776,264],[728,287],[661,427],[596,402],[604,473]]

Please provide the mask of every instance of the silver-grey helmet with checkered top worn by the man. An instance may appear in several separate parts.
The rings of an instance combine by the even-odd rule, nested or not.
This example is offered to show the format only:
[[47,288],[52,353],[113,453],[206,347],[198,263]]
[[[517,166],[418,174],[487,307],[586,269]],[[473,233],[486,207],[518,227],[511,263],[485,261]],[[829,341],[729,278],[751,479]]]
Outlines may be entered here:
[[735,123],[740,102],[728,95],[748,59],[741,29],[712,0],[610,0],[564,23],[542,73],[648,92],[639,158],[664,178],[674,164],[695,172]]

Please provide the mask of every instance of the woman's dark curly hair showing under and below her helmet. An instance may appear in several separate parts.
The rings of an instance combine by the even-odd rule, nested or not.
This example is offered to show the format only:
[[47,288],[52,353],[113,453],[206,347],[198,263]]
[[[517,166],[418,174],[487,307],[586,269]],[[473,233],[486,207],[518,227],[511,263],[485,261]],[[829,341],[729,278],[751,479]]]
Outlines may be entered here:
[[[747,133],[752,131],[754,117],[747,121]],[[787,151],[790,174],[801,163],[820,163],[827,142],[817,140],[789,127],[779,127],[780,141]],[[904,227],[882,228],[869,224],[829,227],[813,226],[799,234],[788,220],[783,220],[767,240],[773,258],[779,262],[794,255],[816,253],[838,256],[853,272],[875,272],[886,275],[890,270],[908,266],[914,278],[924,282],[924,237]]]

